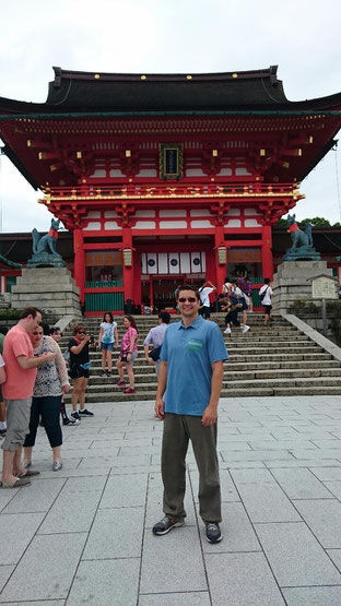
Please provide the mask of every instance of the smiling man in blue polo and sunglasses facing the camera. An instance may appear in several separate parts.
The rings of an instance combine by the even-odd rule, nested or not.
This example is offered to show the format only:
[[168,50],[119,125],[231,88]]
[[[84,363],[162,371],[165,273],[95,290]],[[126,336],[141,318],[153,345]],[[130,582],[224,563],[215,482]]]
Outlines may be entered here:
[[198,289],[180,286],[177,302],[181,321],[168,326],[161,350],[155,414],[164,420],[161,465],[165,515],[153,533],[163,535],[184,524],[185,459],[190,439],[200,476],[199,512],[207,539],[217,543],[222,539],[222,518],[216,412],[223,361],[228,354],[219,326],[199,316]]

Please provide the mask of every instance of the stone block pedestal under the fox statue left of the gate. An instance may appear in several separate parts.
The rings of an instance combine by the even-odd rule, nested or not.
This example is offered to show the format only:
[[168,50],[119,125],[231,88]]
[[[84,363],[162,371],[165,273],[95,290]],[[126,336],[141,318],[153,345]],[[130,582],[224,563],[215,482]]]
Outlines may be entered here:
[[81,318],[80,289],[67,268],[22,270],[16,286],[12,286],[11,307],[38,307],[62,318]]

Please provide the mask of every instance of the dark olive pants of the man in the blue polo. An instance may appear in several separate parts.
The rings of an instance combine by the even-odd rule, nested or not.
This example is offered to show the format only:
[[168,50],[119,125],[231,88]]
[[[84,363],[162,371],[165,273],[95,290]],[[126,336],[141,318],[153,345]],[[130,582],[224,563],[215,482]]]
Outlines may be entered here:
[[186,454],[191,440],[199,470],[199,513],[204,522],[221,522],[221,489],[216,455],[216,424],[201,417],[166,413],[162,442],[163,509],[175,520],[186,518]]

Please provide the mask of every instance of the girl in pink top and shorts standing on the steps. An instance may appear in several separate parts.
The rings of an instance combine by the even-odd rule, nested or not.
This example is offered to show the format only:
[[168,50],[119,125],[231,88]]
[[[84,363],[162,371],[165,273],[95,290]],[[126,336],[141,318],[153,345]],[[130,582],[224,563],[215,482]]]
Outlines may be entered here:
[[117,385],[119,388],[126,388],[124,371],[126,368],[129,378],[129,388],[125,390],[125,393],[136,393],[132,365],[138,355],[138,329],[132,316],[125,316],[124,324],[127,330],[122,336],[119,356],[116,363],[119,373],[119,381]]

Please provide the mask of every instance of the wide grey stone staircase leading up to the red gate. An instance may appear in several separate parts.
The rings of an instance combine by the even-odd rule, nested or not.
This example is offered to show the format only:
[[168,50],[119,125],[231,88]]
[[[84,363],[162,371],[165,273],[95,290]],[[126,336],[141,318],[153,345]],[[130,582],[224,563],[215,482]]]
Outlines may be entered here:
[[[116,319],[117,320],[117,319]],[[223,332],[224,314],[214,313]],[[173,321],[178,321],[174,317]],[[84,321],[87,332],[98,336],[98,318]],[[122,318],[117,320],[119,338],[124,333]],[[154,367],[146,364],[143,341],[149,330],[156,325],[155,316],[138,316],[139,356],[134,364],[136,394],[125,394],[116,385],[115,367],[118,349],[113,353],[113,376],[99,377],[101,352],[91,354],[92,369],[86,402],[118,402],[125,400],[153,400],[156,392]],[[224,364],[223,397],[269,395],[339,395],[341,394],[341,363],[309,340],[281,316],[274,316],[269,326],[263,326],[263,316],[248,316],[251,330],[242,333],[233,329],[224,335],[230,360]],[[67,348],[71,328],[64,332],[61,349]],[[68,400],[70,395],[68,396]]]

